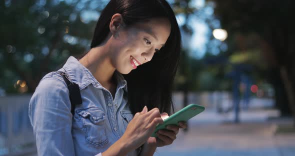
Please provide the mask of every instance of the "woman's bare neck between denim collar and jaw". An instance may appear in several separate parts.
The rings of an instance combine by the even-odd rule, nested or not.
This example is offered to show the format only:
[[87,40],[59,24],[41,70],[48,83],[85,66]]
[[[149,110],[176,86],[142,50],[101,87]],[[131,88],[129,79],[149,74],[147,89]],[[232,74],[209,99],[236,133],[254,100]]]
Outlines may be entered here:
[[79,61],[83,64],[102,85],[112,83],[112,76],[115,68],[111,65],[107,55],[109,48],[106,44],[91,48]]

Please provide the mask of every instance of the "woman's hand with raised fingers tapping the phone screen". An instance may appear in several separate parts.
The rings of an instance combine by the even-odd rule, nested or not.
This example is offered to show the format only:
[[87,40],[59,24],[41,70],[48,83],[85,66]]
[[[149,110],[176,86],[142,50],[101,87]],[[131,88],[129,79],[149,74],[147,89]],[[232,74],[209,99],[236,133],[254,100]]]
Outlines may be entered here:
[[163,123],[159,109],[147,111],[144,106],[141,112],[135,113],[120,139],[124,140],[130,149],[136,149],[146,142],[158,123]]

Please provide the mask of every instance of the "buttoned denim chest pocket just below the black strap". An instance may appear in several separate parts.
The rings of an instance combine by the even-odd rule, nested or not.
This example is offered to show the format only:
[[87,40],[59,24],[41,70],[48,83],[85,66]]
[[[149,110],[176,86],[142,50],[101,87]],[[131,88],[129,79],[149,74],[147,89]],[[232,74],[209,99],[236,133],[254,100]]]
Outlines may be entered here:
[[108,142],[104,120],[104,111],[97,107],[76,110],[82,123],[82,130],[85,134],[86,142],[101,147]]

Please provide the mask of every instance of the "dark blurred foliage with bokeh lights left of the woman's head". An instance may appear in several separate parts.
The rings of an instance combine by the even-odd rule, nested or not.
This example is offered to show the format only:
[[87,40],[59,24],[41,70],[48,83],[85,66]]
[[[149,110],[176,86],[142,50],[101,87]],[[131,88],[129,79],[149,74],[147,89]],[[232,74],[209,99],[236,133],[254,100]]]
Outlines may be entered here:
[[44,74],[61,67],[69,55],[87,50],[106,2],[1,1],[0,86],[7,93],[31,92]]

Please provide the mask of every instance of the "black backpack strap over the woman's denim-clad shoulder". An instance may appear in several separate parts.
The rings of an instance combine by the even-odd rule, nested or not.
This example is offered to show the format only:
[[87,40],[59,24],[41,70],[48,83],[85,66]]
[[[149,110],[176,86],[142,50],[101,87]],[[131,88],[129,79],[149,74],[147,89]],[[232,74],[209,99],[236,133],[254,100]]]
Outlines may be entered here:
[[67,88],[69,91],[69,100],[71,105],[70,112],[73,116],[75,111],[75,106],[82,103],[79,85],[74,82],[71,82],[66,73],[62,71],[57,71],[57,72],[62,76],[63,80],[65,81],[67,85]]

